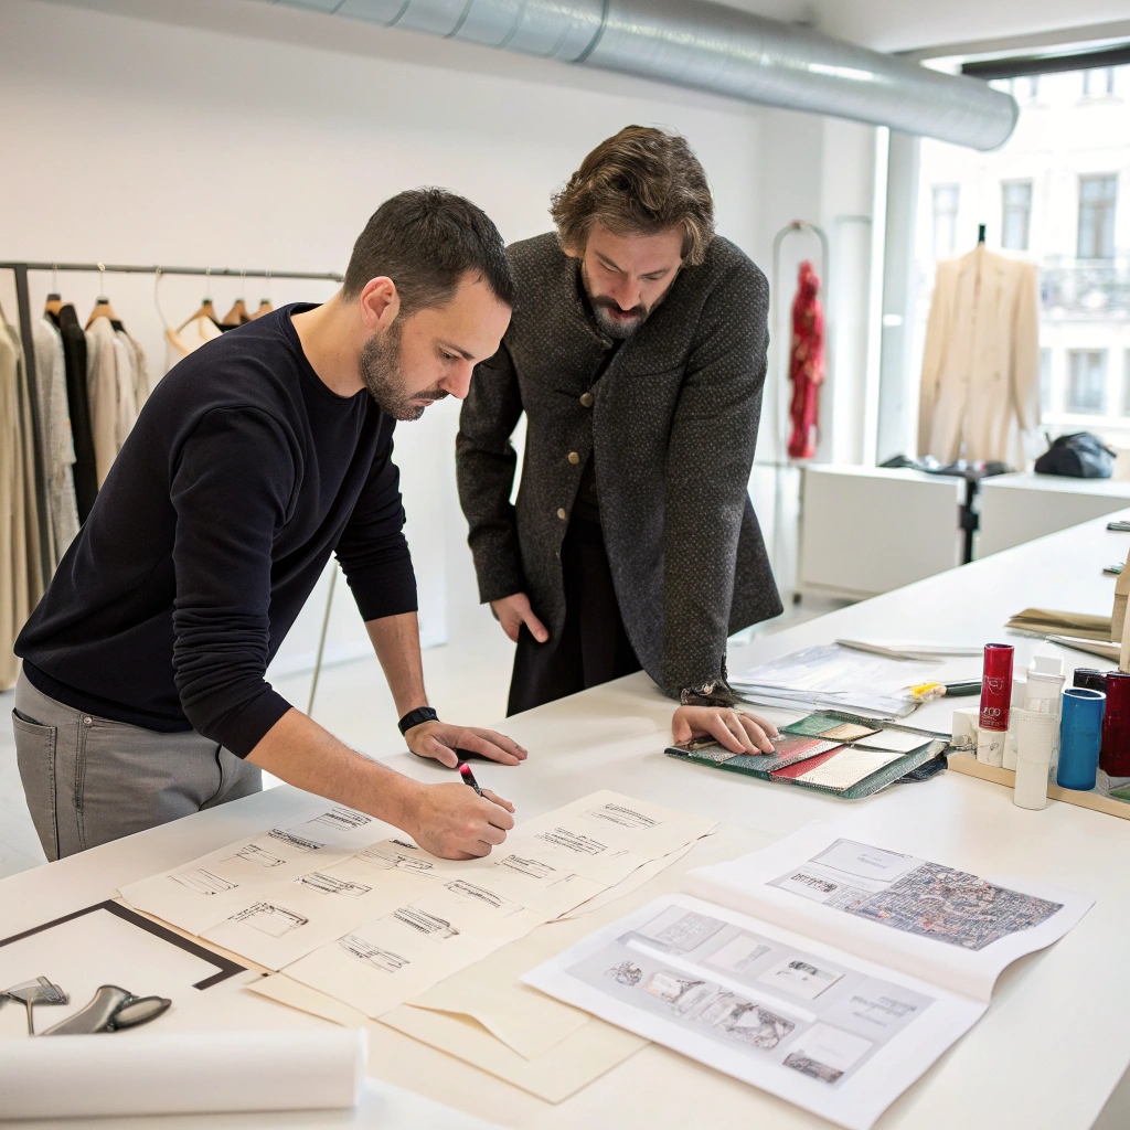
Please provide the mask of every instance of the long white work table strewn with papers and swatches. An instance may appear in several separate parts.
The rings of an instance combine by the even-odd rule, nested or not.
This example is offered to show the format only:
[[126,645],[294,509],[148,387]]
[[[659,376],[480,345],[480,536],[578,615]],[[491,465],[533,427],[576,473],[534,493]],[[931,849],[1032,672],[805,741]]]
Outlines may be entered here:
[[[1106,612],[1113,580],[1102,574],[1102,567],[1125,557],[1130,534],[1109,532],[1105,524],[1101,519],[1051,534],[755,640],[731,653],[731,669],[737,672],[836,637],[981,644],[1003,638],[1005,619],[1027,606]],[[1009,642],[1017,645],[1018,666],[1026,664],[1037,644],[1024,638]],[[1105,666],[1086,655],[1062,654],[1069,669]],[[939,713],[930,710],[938,719]],[[742,837],[767,842],[808,820],[864,814],[886,845],[897,847],[904,831],[921,835],[928,829],[929,858],[938,862],[980,875],[1028,876],[1089,893],[1097,902],[1083,922],[1051,949],[1006,971],[984,1019],[878,1125],[884,1130],[1093,1125],[1130,1066],[1130,977],[1124,968],[1130,954],[1130,822],[1055,801],[1042,812],[1025,811],[1014,807],[1007,789],[955,772],[921,784],[895,785],[855,802],[718,773],[663,755],[671,711],[672,704],[650,680],[631,676],[508,720],[504,728],[530,749],[529,762],[516,768],[476,766],[476,773],[481,783],[515,802],[520,819],[606,788],[719,817],[722,832],[701,842],[678,870],[719,858]],[[391,757],[388,764],[423,781],[451,780],[450,773],[408,754]],[[14,876],[0,883],[0,937],[108,898],[123,884],[270,826],[311,802],[305,793],[279,788]],[[609,907],[603,916],[598,912],[592,925],[676,881],[672,869],[627,896],[623,906]],[[247,1028],[323,1023],[259,998],[253,1008],[244,1011],[241,1006],[236,1012],[233,1026]],[[827,1125],[657,1045],[554,1106],[380,1024],[371,1026],[371,1071],[379,1079],[504,1127]],[[1121,1095],[1115,1097],[1120,1099]],[[147,1119],[144,1124],[202,1128],[219,1125],[220,1120]],[[225,1116],[221,1124],[337,1127],[349,1120],[245,1115]],[[366,1124],[425,1123],[414,1122],[409,1114],[393,1118],[390,1107],[388,1120]]]

